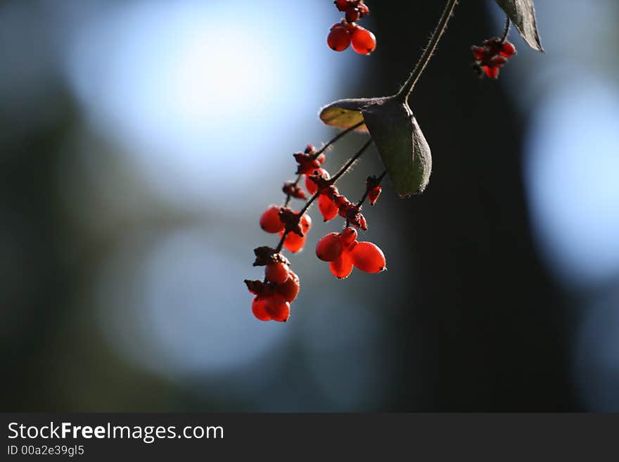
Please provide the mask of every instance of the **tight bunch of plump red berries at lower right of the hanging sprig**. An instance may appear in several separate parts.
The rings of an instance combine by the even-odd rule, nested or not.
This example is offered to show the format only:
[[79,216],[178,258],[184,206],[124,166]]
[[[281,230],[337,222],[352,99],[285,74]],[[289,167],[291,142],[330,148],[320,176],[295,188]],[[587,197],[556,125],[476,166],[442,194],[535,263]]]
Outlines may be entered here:
[[357,230],[347,227],[341,233],[328,233],[316,245],[316,256],[329,262],[329,269],[338,279],[347,278],[352,267],[366,273],[385,269],[385,255],[371,242],[357,241]]

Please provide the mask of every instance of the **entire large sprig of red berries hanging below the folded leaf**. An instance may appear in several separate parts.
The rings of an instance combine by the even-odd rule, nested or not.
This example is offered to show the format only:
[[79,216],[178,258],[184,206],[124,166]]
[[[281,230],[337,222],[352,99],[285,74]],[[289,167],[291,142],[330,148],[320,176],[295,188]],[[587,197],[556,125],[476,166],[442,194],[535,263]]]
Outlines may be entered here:
[[[352,127],[349,130],[354,129]],[[338,136],[339,137],[339,136]],[[263,281],[249,281],[245,284],[250,293],[255,295],[252,312],[261,321],[287,321],[290,316],[290,304],[299,293],[300,281],[291,271],[290,262],[281,254],[282,248],[290,252],[299,252],[305,245],[307,233],[312,228],[312,219],[307,214],[309,206],[317,200],[324,221],[338,215],[345,219],[344,230],[331,233],[322,238],[316,248],[319,259],[329,262],[331,273],[337,278],[346,278],[353,267],[367,273],[379,273],[385,269],[385,255],[381,249],[369,242],[357,241],[357,230],[368,229],[361,213],[364,200],[368,198],[374,205],[381,193],[380,177],[366,180],[365,193],[358,203],[353,204],[338,192],[336,181],[345,174],[360,155],[371,145],[368,141],[347,163],[331,177],[322,167],[326,158],[324,151],[338,137],[327,143],[321,150],[307,146],[304,152],[295,153],[297,162],[297,179],[283,185],[286,194],[284,205],[269,205],[260,217],[260,227],[267,233],[279,234],[280,241],[276,248],[262,246],[254,250],[255,267],[264,267]],[[300,187],[305,177],[307,193],[312,195],[301,210],[288,207],[292,198],[307,199],[307,193]]]

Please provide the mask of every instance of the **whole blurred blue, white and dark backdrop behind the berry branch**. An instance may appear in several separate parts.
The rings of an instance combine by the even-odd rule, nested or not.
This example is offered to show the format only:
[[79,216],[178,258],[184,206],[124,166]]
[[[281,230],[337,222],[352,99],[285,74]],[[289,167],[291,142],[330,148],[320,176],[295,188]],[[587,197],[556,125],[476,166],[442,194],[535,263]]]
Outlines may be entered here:
[[254,319],[317,110],[392,94],[442,11],[367,4],[369,57],[327,48],[330,0],[0,2],[2,411],[619,411],[614,0],[538,1],[547,53],[512,31],[497,82],[470,46],[504,16],[461,2],[411,98],[430,185],[366,209],[389,271],[336,281],[313,210],[291,320]]

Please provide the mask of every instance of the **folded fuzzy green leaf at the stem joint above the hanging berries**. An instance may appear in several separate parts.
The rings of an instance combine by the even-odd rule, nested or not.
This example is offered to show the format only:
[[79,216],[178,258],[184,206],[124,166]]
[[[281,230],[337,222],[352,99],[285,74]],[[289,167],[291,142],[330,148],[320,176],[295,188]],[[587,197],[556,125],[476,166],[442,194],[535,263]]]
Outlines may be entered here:
[[430,180],[430,146],[408,103],[394,96],[344,99],[326,105],[321,120],[343,129],[365,122],[387,174],[400,196],[421,193]]

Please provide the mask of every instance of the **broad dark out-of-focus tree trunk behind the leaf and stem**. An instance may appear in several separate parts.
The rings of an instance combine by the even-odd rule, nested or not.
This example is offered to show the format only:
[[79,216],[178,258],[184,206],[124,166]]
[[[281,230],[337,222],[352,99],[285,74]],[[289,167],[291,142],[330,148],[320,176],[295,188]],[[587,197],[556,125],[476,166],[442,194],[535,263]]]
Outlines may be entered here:
[[[410,16],[431,25],[433,9],[419,4]],[[408,406],[575,410],[566,357],[568,314],[531,238],[521,178],[523,120],[508,90],[477,82],[467,66],[468,44],[497,35],[497,27],[489,27],[479,2],[462,2],[458,10],[464,20],[450,25],[423,76],[424,90],[413,97],[437,153],[433,192],[392,210],[409,220],[405,229],[419,267],[415,285],[409,285],[409,296],[419,302],[402,324],[418,326],[422,338],[409,338],[407,347],[431,352],[423,361],[423,397]],[[423,43],[427,34],[421,27],[412,33],[411,43]],[[389,39],[397,46],[400,37]],[[384,64],[395,75],[404,74],[407,65]]]

